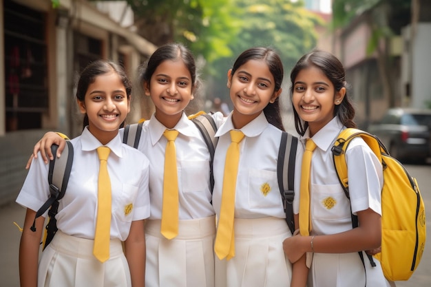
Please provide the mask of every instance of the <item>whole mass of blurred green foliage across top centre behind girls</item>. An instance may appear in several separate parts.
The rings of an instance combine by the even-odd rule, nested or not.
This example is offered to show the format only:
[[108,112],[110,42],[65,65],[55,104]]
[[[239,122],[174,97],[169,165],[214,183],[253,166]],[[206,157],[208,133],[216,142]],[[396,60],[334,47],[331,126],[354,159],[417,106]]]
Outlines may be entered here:
[[256,45],[274,47],[286,71],[315,47],[322,19],[290,0],[127,0],[138,34],[155,45],[179,41],[205,65],[215,94],[240,52]]

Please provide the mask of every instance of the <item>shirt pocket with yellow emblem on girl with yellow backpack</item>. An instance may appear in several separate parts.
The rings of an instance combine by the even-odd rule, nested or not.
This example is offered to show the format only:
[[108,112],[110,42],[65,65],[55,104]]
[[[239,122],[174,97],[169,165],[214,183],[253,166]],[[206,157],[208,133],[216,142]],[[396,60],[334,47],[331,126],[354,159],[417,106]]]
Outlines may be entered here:
[[319,220],[350,218],[350,202],[340,184],[312,184],[311,209]]

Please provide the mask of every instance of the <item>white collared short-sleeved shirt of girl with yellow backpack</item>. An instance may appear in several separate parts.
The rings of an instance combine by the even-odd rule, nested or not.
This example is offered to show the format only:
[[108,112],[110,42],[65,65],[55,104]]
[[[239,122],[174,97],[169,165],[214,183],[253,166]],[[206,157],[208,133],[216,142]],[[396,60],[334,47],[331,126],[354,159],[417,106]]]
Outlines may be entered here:
[[[313,234],[334,234],[352,228],[351,211],[368,208],[381,214],[383,171],[381,163],[361,138],[354,138],[346,150],[348,182],[352,209],[337,178],[331,148],[342,129],[337,117],[319,130],[313,141],[317,145],[311,161],[311,224]],[[309,138],[308,130],[301,138]],[[295,194],[294,213],[299,213],[299,193]]]

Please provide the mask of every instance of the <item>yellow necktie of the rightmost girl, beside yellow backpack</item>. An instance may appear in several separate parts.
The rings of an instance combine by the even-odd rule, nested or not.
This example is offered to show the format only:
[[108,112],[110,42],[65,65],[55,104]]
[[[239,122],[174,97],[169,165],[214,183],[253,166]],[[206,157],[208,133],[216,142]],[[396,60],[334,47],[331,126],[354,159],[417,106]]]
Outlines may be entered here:
[[302,156],[302,169],[301,169],[301,191],[299,195],[299,232],[303,236],[310,234],[310,167],[311,156],[316,148],[316,144],[307,139],[305,145],[304,156]]

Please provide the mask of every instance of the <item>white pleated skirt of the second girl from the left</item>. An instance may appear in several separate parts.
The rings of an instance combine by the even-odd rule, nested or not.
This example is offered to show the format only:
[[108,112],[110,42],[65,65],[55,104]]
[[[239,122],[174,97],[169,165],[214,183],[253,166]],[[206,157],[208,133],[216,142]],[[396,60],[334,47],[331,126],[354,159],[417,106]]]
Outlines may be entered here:
[[215,216],[180,220],[178,235],[167,240],[160,220],[147,220],[147,287],[213,287]]

